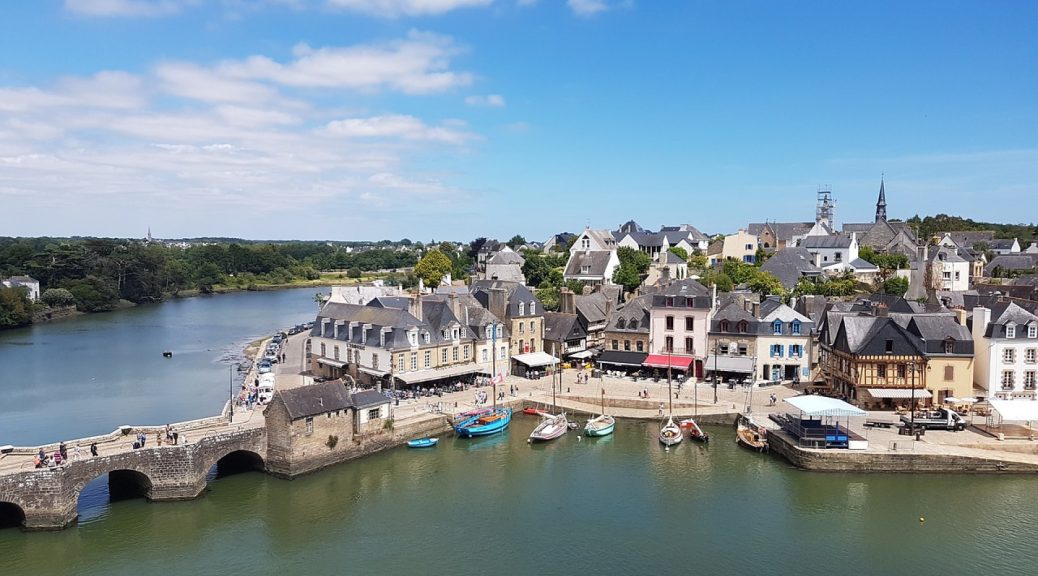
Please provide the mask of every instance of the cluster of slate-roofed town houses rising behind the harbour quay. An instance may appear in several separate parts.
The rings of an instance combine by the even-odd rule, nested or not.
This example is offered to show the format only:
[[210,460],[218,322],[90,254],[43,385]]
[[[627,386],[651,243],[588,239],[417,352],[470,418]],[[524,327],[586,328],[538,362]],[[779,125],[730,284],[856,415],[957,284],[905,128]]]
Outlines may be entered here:
[[[882,182],[871,221],[838,226],[835,212],[821,190],[813,221],[713,239],[632,220],[543,243],[486,241],[469,278],[335,286],[308,341],[310,368],[400,388],[537,378],[566,363],[792,384],[868,409],[1036,399],[1038,245],[993,231],[919,238],[887,219]],[[547,255],[565,259],[556,302],[524,274]]]

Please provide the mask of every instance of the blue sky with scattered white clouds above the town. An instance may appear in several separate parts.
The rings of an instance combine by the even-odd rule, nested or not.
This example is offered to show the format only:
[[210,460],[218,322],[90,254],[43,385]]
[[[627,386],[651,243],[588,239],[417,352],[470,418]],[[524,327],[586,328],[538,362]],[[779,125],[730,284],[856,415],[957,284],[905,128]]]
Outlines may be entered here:
[[0,235],[1038,220],[1038,4],[0,6]]

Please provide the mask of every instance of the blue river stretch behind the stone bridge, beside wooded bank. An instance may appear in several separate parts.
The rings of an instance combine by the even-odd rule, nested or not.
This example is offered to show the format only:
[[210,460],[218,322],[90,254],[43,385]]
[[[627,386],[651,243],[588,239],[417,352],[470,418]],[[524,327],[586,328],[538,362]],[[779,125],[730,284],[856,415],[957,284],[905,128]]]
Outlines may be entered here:
[[174,299],[0,331],[0,445],[218,414],[245,345],[313,320],[318,290]]

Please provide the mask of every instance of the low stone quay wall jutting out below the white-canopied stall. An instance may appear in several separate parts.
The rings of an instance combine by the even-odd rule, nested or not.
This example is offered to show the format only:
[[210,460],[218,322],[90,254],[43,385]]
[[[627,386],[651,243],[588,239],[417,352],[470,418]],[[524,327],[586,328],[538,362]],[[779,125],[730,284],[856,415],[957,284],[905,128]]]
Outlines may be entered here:
[[768,431],[768,448],[802,470],[822,472],[1036,473],[1026,462],[912,451],[873,452],[801,448],[785,432]]

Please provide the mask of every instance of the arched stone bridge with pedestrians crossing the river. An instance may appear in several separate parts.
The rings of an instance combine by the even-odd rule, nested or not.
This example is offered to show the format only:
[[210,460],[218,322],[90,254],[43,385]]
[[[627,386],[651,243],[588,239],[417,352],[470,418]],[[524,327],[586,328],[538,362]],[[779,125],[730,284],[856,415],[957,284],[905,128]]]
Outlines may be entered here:
[[[109,493],[152,501],[185,500],[201,494],[214,466],[263,470],[265,427],[224,427],[191,443],[152,446],[73,460],[62,466],[0,473],[0,525],[60,529],[78,517],[79,494],[108,474]],[[2,464],[2,462],[0,462]]]

